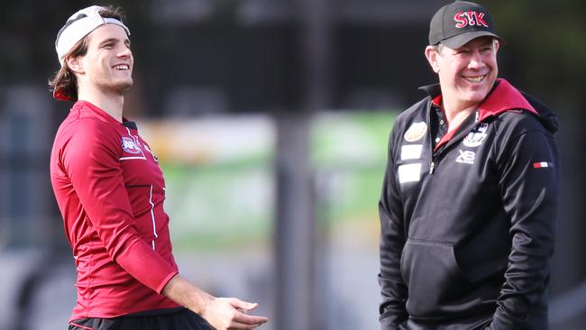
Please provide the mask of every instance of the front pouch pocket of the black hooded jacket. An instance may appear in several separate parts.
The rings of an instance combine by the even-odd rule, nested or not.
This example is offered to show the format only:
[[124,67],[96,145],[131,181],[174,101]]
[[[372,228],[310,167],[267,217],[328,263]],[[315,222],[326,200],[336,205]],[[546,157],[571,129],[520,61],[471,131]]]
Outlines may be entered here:
[[407,312],[427,318],[462,315],[480,300],[466,297],[471,283],[456,261],[453,244],[408,239],[401,255],[401,274],[407,284]]

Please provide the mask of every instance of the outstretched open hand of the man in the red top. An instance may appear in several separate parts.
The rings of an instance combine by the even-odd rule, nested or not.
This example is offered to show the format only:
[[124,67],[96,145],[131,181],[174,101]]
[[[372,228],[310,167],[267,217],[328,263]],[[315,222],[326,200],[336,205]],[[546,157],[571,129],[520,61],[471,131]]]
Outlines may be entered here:
[[258,307],[238,298],[212,298],[201,313],[216,330],[253,329],[269,319],[263,316],[249,316],[246,312]]

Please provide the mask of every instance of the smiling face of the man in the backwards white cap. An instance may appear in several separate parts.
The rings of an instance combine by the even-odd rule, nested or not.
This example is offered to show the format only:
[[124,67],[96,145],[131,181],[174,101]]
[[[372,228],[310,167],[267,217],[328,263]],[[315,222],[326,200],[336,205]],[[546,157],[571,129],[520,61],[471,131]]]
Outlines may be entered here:
[[104,24],[87,35],[86,55],[69,66],[78,74],[79,88],[124,95],[133,86],[133,61],[124,29]]

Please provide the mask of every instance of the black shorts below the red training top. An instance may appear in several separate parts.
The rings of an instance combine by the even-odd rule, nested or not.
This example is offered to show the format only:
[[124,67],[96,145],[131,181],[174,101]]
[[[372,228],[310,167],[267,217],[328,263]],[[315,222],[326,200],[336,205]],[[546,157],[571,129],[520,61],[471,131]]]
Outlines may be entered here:
[[213,330],[187,308],[136,313],[113,318],[88,317],[69,322],[69,330]]

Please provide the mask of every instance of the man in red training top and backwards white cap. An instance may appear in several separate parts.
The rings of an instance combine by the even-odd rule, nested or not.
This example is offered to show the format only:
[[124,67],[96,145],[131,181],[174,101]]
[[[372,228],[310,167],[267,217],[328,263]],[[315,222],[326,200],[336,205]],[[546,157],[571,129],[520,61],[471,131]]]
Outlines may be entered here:
[[165,182],[136,124],[129,29],[119,8],[69,17],[55,42],[53,96],[74,101],[50,157],[50,179],[78,271],[69,329],[252,329],[256,304],[215,298],[179,275],[163,209]]

